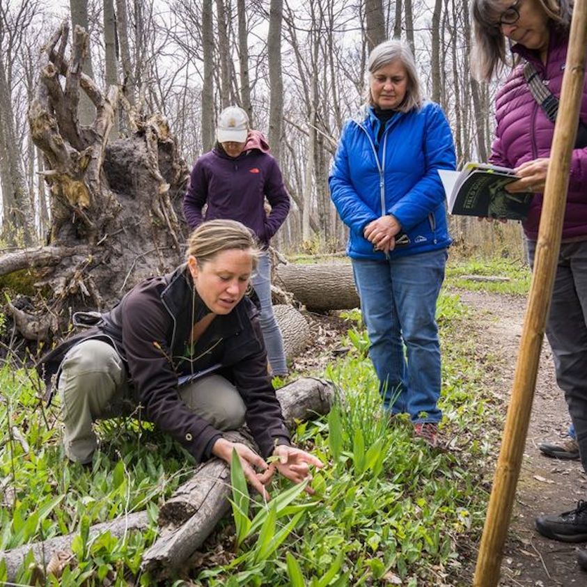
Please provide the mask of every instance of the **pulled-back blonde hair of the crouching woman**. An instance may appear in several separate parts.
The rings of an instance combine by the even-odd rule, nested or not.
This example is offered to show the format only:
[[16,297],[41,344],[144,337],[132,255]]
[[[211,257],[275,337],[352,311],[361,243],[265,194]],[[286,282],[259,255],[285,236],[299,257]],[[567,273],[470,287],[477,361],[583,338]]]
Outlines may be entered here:
[[253,269],[257,268],[259,247],[249,228],[236,220],[208,220],[194,230],[187,241],[186,258],[193,256],[199,266],[208,263],[222,251],[249,251]]

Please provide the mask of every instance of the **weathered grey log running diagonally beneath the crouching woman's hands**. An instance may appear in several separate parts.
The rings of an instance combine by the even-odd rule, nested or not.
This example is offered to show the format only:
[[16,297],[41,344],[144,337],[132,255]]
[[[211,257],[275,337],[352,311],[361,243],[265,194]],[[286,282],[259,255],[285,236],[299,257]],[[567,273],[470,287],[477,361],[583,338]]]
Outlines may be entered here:
[[[296,420],[327,414],[334,401],[334,386],[306,377],[279,389],[277,397],[285,421],[292,428]],[[203,464],[159,510],[159,526],[165,529],[143,554],[141,570],[157,579],[173,577],[226,515],[229,495],[228,465],[218,459]]]

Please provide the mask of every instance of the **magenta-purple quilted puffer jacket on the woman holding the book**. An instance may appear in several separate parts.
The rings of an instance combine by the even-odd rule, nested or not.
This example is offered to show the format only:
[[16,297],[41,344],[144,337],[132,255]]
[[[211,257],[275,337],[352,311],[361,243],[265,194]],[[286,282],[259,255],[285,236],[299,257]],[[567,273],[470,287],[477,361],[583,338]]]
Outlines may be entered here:
[[[512,52],[533,63],[547,88],[559,99],[568,40],[568,34],[551,29],[546,65],[535,52],[522,45],[512,47]],[[495,99],[497,128],[491,162],[506,167],[517,167],[538,157],[549,157],[554,134],[554,125],[530,93],[523,68],[524,63],[521,63],[512,71]],[[580,116],[587,124],[587,77]],[[529,217],[524,221],[524,232],[531,240],[538,238],[541,211],[542,194],[535,194]],[[587,240],[587,148],[572,152],[563,240]]]

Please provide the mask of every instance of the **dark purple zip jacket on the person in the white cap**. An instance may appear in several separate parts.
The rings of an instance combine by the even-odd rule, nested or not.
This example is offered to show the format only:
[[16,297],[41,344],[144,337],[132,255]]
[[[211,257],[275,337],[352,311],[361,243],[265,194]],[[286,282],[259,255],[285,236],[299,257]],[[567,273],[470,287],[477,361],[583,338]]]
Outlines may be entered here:
[[[271,205],[269,216],[263,208],[264,196]],[[202,208],[208,203],[205,217]],[[290,196],[276,160],[253,148],[238,157],[228,157],[214,148],[202,155],[191,170],[183,211],[190,228],[204,220],[231,219],[251,228],[266,248],[285,221]]]

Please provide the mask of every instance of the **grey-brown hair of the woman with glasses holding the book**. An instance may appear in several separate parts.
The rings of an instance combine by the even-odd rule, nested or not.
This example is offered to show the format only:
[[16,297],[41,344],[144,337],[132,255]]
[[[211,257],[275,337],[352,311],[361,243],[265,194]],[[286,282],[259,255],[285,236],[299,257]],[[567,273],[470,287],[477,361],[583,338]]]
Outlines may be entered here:
[[[555,26],[568,31],[572,6],[569,0],[538,0],[548,19]],[[473,20],[473,49],[471,70],[479,81],[489,81],[499,73],[504,65],[512,65],[506,48],[506,37],[501,26],[496,24],[503,10],[500,0],[472,0],[471,19]]]

